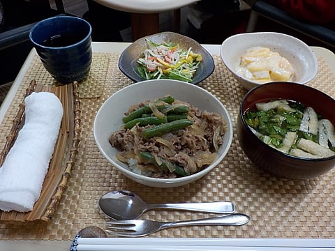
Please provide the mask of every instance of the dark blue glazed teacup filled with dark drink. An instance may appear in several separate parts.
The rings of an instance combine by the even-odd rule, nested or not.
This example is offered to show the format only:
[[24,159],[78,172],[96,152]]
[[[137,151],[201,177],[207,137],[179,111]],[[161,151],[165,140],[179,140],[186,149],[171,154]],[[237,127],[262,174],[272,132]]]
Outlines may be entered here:
[[35,24],[29,33],[47,71],[59,82],[80,82],[91,68],[91,25],[80,17],[59,15]]

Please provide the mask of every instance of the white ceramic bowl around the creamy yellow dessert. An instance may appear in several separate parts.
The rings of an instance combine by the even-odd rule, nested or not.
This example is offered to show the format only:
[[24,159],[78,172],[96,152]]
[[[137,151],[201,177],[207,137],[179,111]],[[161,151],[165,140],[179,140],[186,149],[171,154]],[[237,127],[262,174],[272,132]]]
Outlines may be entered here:
[[247,90],[262,84],[256,79],[241,75],[238,70],[241,56],[253,47],[269,48],[271,52],[287,59],[294,72],[289,82],[306,84],[318,73],[318,60],[313,50],[298,38],[276,32],[240,33],[223,41],[220,54],[225,66]]

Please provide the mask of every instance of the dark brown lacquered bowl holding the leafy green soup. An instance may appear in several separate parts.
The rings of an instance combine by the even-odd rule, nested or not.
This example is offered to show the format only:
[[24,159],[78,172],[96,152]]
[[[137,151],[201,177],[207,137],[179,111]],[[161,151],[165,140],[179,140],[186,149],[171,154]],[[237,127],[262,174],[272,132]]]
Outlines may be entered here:
[[248,128],[244,113],[257,102],[287,99],[311,106],[335,125],[335,100],[310,86],[290,82],[262,84],[246,93],[237,118],[237,137],[248,158],[271,174],[292,179],[314,178],[335,165],[335,155],[329,158],[299,158],[282,153],[262,142]]

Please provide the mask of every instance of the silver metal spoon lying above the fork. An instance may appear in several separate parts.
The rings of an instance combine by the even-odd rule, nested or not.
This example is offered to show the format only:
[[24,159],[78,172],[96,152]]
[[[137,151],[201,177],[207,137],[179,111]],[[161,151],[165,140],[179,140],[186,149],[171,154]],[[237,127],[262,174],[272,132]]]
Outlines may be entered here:
[[172,208],[178,210],[198,211],[205,213],[234,213],[235,206],[229,201],[186,202],[147,204],[135,193],[127,190],[107,192],[99,199],[99,207],[108,217],[114,220],[137,219],[145,211],[152,209]]

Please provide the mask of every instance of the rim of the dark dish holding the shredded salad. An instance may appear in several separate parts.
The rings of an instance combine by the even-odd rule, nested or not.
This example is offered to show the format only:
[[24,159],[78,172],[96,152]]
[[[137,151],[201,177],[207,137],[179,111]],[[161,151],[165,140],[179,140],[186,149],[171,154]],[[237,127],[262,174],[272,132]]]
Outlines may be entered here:
[[[124,75],[126,75],[126,77],[128,77],[129,79],[133,80],[133,82],[142,82],[142,81],[147,81],[147,80],[155,80],[155,79],[142,79],[142,77],[140,77],[140,75],[134,77],[133,75],[129,74],[128,71],[126,71],[124,69],[124,60],[126,58],[126,53],[128,53],[128,50],[131,50],[132,47],[135,47],[137,45],[138,42],[142,41],[142,40],[145,40],[145,39],[149,39],[149,38],[153,38],[153,37],[156,37],[156,36],[162,36],[162,35],[171,35],[171,36],[177,36],[179,38],[184,38],[185,40],[189,40],[191,43],[197,45],[198,47],[201,48],[203,54],[202,54],[202,59],[204,58],[207,58],[208,60],[208,63],[209,63],[209,68],[207,68],[207,74],[205,75],[202,75],[202,77],[199,77],[189,83],[191,84],[199,84],[200,82],[204,81],[204,79],[207,79],[207,77],[209,77],[213,72],[214,72],[214,69],[215,69],[215,63],[214,63],[214,59],[213,59],[213,56],[211,56],[211,54],[207,51],[206,48],[204,48],[200,43],[198,43],[198,41],[194,40],[193,38],[190,38],[188,36],[184,36],[180,33],[176,33],[176,32],[172,32],[172,31],[163,31],[163,32],[159,32],[159,33],[155,33],[155,34],[151,34],[149,36],[144,36],[142,38],[139,38],[137,40],[135,40],[133,43],[131,43],[130,45],[128,45],[126,47],[126,49],[121,52],[121,55],[119,56],[119,63],[118,63],[118,66],[119,66],[119,70],[121,70],[122,73],[124,73]],[[196,76],[197,73],[195,73],[195,76]],[[201,75],[200,75],[201,76]],[[174,79],[171,79],[171,80],[174,80]],[[187,82],[186,82],[187,83]]]

